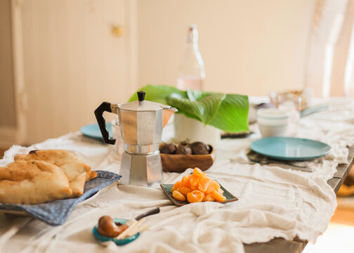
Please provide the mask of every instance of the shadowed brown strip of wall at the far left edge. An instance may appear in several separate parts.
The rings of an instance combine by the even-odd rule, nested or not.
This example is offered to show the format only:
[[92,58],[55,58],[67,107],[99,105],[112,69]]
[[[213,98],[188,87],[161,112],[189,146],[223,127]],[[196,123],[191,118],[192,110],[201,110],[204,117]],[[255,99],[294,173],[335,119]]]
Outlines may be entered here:
[[10,2],[0,1],[0,128],[16,126]]

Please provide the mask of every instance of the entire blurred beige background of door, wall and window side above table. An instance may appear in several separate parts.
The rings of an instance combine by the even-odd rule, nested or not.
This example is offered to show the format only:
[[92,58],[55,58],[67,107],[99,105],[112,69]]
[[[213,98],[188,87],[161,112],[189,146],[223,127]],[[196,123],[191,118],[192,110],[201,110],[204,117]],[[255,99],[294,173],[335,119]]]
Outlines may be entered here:
[[95,122],[98,104],[176,86],[188,25],[204,90],[353,96],[353,0],[0,0],[0,147]]

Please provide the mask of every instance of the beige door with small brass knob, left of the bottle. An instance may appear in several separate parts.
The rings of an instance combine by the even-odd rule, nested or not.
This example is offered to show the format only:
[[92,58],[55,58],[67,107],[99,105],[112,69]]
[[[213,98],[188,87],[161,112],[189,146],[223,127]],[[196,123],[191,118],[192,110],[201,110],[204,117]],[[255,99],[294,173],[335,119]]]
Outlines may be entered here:
[[[103,101],[124,102],[129,38],[124,0],[22,2],[24,79],[28,97],[27,143],[77,131],[96,122]],[[113,116],[111,115],[111,118]]]

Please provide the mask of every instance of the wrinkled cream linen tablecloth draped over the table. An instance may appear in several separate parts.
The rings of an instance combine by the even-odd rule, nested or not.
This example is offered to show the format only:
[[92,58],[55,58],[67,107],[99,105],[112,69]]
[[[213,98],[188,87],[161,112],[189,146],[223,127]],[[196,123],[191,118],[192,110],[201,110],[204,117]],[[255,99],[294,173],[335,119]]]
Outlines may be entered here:
[[[114,183],[79,204],[62,226],[0,214],[0,252],[244,252],[242,242],[266,242],[275,237],[292,240],[298,235],[315,242],[336,208],[336,196],[327,180],[338,164],[347,162],[347,146],[354,144],[354,101],[332,98],[328,103],[328,111],[302,118],[299,126],[299,137],[332,146],[325,157],[305,162],[315,169],[313,173],[237,163],[235,158],[244,156],[260,136],[225,139],[216,147],[216,162],[206,174],[240,200],[176,207],[158,185],[143,188]],[[171,134],[169,129],[165,132],[164,138]],[[94,170],[119,174],[114,146],[79,132],[29,148],[14,145],[0,165],[12,162],[15,154],[49,148],[69,150]],[[174,183],[191,172],[164,173],[164,183]],[[161,213],[147,218],[150,231],[129,245],[103,247],[93,238],[92,228],[100,216],[131,219],[153,207],[161,207]]]

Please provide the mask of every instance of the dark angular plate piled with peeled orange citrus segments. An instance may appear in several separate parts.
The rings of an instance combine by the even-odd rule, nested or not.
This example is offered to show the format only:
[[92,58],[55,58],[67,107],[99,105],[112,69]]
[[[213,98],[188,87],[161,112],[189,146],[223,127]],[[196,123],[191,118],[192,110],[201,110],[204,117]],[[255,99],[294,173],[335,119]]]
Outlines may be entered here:
[[218,181],[209,179],[198,168],[194,169],[193,174],[183,176],[183,179],[175,184],[162,183],[160,186],[176,206],[192,202],[227,203],[238,200]]

